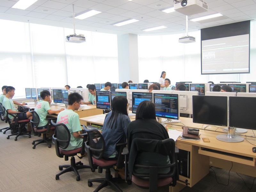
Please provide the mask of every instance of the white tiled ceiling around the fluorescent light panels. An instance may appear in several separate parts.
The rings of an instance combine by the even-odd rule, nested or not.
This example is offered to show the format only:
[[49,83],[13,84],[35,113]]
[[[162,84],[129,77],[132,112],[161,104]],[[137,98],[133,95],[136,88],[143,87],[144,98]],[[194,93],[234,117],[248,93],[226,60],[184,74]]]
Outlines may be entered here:
[[[159,11],[174,4],[173,0],[38,0],[26,10],[11,8],[18,0],[0,0],[0,19],[30,22],[58,27],[73,28],[72,4],[75,14],[84,10],[100,11],[100,14],[84,20],[75,19],[76,29],[112,34],[164,35],[186,32],[186,15],[179,12]],[[189,1],[189,0],[188,0]],[[188,16],[189,19],[221,13],[222,20],[203,24],[188,21],[188,31],[256,19],[256,0],[204,0],[209,9]],[[113,23],[127,19],[137,19],[132,24],[121,27]],[[155,31],[143,29],[165,26]]]

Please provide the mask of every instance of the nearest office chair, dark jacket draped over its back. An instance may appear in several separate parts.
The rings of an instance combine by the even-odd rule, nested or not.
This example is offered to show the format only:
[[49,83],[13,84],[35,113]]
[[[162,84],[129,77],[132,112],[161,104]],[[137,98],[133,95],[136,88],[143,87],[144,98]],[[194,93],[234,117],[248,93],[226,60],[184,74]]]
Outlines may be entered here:
[[[176,153],[178,148],[176,148]],[[162,155],[168,155],[170,164],[136,164],[138,153],[153,152]],[[128,155],[127,148],[124,149],[124,155]],[[139,169],[143,169],[140,170]],[[161,172],[162,169],[162,172]],[[168,173],[163,173],[163,169],[170,169]],[[129,151],[128,172],[132,182],[140,188],[149,188],[149,191],[157,191],[158,187],[165,185],[175,186],[179,179],[177,155],[175,154],[175,142],[173,139],[152,140],[135,138],[132,140],[131,149]],[[137,172],[136,172],[137,171]],[[141,173],[143,172],[143,173]],[[166,172],[166,171],[165,171]],[[127,176],[127,158],[125,158],[125,177]],[[127,183],[130,179],[125,178]],[[130,181],[129,181],[130,182]]]

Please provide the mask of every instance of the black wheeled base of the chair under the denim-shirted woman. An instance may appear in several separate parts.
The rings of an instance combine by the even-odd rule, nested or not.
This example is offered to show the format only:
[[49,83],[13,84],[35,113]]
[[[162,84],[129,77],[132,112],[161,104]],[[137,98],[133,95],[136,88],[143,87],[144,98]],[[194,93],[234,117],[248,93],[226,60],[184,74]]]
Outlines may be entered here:
[[98,179],[89,179],[88,186],[92,187],[92,182],[98,182],[100,185],[94,190],[94,192],[98,192],[100,189],[106,186],[112,186],[116,191],[122,192],[122,190],[116,185],[116,182],[124,181],[121,178],[112,178],[110,173],[110,169],[106,169],[106,178],[98,178]]

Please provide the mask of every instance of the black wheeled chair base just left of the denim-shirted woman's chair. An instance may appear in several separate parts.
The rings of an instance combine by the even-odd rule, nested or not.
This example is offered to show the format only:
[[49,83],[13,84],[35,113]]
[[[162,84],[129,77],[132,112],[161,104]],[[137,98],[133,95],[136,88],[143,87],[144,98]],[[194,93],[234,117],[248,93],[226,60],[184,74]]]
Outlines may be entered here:
[[[63,168],[66,168],[66,169],[63,170]],[[58,174],[56,174],[55,179],[59,180],[60,175],[62,175],[63,173],[73,171],[76,174],[76,181],[79,181],[80,180],[80,175],[77,171],[79,169],[91,169],[91,167],[87,166],[87,165],[83,165],[83,163],[81,163],[81,161],[76,163],[75,157],[73,156],[70,159],[70,165],[59,165],[59,170],[62,170],[62,171],[59,172]]]

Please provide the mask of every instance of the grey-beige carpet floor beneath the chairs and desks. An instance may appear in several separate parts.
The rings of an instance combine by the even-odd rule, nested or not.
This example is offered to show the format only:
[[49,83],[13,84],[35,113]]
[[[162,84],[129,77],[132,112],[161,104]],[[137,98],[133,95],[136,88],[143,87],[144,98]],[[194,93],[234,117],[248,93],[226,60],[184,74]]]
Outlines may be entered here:
[[[0,128],[8,126],[4,122],[0,122]],[[92,187],[88,187],[87,180],[94,178],[104,178],[105,172],[91,172],[90,169],[79,170],[80,181],[76,181],[76,176],[73,172],[68,172],[60,175],[60,180],[55,180],[55,174],[59,172],[59,165],[69,164],[69,161],[64,161],[64,158],[56,156],[54,145],[48,148],[46,144],[39,144],[36,149],[32,149],[33,140],[39,137],[31,134],[28,136],[20,136],[17,141],[14,141],[15,136],[11,136],[9,140],[7,135],[11,134],[7,131],[6,134],[0,132],[0,191],[18,191],[18,192],[50,192],[50,191],[93,191],[99,185],[93,183]],[[87,156],[81,160],[76,157],[76,161],[82,161],[84,165],[89,165]],[[228,183],[228,171],[216,167],[212,168],[217,175],[217,180],[220,183]],[[114,174],[114,170],[111,170]],[[252,187],[252,177],[242,175],[247,186]],[[210,169],[210,173],[205,176],[194,187],[185,187],[182,192],[213,192],[213,191],[256,191],[256,181],[251,190],[249,190],[244,181],[235,173],[230,172],[229,185],[224,186],[216,182],[214,172]],[[118,183],[118,186],[125,192],[148,191],[141,189],[134,184],[127,185],[125,182]],[[100,191],[113,191],[111,187],[105,187]],[[158,191],[169,191],[168,186],[159,188]]]

